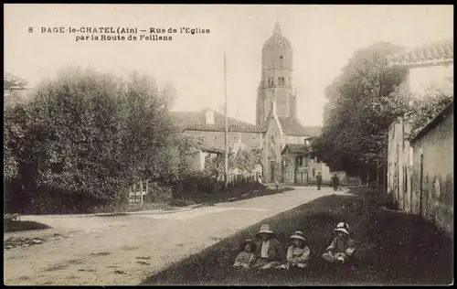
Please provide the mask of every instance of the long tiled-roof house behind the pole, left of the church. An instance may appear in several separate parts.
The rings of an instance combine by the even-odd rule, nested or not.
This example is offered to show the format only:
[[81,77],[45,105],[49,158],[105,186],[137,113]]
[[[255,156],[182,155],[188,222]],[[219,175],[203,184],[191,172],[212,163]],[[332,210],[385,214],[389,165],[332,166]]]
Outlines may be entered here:
[[[192,167],[205,169],[207,158],[224,154],[225,115],[210,109],[199,112],[171,112],[181,132],[192,136],[197,151],[192,156]],[[261,148],[264,129],[228,117],[228,145],[236,153],[239,149]]]

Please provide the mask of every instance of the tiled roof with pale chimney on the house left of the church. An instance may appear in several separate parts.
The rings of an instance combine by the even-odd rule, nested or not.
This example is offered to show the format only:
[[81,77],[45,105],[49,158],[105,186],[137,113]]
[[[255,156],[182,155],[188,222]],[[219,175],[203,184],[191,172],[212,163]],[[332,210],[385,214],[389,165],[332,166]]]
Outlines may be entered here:
[[[206,123],[206,111],[200,112],[171,112],[177,123],[182,125],[183,130],[189,131],[225,131],[225,116],[214,112],[214,124]],[[213,112],[213,111],[212,111]],[[228,117],[228,132],[239,133],[263,133],[265,129],[250,123],[244,123],[232,117]]]

